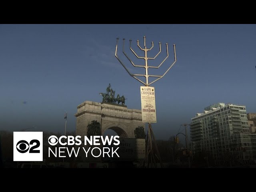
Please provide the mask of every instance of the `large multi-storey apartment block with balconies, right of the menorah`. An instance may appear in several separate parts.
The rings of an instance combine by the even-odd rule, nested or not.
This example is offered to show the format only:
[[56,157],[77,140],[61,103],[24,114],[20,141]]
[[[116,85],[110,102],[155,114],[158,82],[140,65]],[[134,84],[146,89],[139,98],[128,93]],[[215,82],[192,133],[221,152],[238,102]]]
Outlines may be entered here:
[[190,123],[193,154],[210,152],[216,164],[254,162],[246,107],[216,103],[197,113]]

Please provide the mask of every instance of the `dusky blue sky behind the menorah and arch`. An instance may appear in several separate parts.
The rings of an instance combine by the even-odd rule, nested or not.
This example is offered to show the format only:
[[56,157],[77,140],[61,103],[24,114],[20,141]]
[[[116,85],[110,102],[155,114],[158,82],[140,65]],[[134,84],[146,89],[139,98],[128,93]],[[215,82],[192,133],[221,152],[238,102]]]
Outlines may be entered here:
[[[141,109],[140,86],[115,57],[133,74],[145,70],[133,67],[145,61],[149,74],[162,75],[177,61],[155,88],[157,122],[152,124],[156,139],[167,140],[183,131],[196,113],[206,106],[224,102],[242,104],[256,113],[256,25],[255,24],[1,24],[0,25],[0,130],[76,130],[77,106],[84,101],[101,102],[106,87],[124,95],[129,109]],[[141,78],[146,81],[145,78]],[[154,78],[149,78],[152,82]],[[189,128],[188,128],[189,129]],[[189,130],[188,130],[189,131]]]

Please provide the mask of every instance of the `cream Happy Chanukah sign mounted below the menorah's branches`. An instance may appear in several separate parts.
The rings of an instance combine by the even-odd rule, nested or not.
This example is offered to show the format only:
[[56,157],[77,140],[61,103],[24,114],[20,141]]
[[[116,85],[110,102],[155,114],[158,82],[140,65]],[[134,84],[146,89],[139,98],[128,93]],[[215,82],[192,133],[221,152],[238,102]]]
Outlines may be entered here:
[[155,88],[140,87],[142,122],[156,123]]

